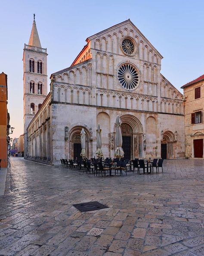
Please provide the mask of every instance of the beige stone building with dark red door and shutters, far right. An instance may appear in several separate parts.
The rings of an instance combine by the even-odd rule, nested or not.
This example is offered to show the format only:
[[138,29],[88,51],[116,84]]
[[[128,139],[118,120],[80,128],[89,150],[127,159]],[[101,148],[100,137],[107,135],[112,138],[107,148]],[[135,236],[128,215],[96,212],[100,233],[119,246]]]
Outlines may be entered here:
[[185,102],[185,156],[204,158],[204,75],[181,88]]

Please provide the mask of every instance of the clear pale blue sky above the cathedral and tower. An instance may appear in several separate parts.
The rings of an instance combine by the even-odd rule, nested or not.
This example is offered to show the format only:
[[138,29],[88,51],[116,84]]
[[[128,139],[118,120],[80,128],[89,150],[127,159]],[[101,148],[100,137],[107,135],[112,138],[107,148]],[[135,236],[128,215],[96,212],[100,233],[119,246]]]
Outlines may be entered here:
[[12,138],[23,134],[22,56],[33,13],[48,53],[48,92],[50,74],[69,67],[88,36],[129,18],[164,57],[161,73],[177,89],[204,74],[203,0],[2,0],[0,9],[0,73],[8,75]]

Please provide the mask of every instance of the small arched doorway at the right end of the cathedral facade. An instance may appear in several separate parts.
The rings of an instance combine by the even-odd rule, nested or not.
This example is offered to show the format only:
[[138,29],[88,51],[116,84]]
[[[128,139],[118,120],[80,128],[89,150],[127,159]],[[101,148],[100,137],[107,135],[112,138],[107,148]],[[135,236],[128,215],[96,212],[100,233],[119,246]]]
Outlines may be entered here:
[[175,141],[172,131],[165,131],[163,140],[161,140],[161,158],[173,159],[175,158]]

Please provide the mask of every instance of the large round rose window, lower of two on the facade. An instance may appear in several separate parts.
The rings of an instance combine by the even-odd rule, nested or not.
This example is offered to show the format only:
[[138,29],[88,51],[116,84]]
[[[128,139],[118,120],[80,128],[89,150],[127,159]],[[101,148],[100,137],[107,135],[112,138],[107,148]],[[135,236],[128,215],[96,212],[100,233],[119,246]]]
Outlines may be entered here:
[[134,90],[139,84],[138,71],[131,64],[123,64],[117,71],[121,85],[127,90]]

